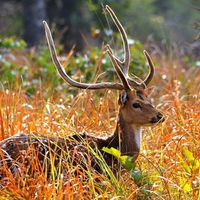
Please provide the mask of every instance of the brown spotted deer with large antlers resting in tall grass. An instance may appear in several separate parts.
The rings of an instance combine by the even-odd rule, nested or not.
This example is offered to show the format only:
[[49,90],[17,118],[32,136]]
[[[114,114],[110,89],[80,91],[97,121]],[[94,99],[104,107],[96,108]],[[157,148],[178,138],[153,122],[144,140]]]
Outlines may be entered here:
[[[48,171],[51,171],[51,165],[58,166],[63,157],[66,158],[66,155],[69,154],[69,158],[66,159],[68,162],[71,162],[73,165],[83,163],[81,162],[82,157],[87,156],[89,153],[86,147],[88,144],[102,153],[110,167],[115,166],[118,161],[112,155],[104,152],[102,150],[103,147],[118,149],[121,155],[131,156],[133,158],[132,162],[135,162],[140,154],[142,127],[153,126],[164,121],[163,114],[150,102],[150,96],[153,93],[154,87],[147,86],[152,81],[155,71],[150,55],[144,50],[143,53],[149,65],[147,77],[143,81],[135,81],[134,78],[129,76],[131,53],[127,34],[114,11],[108,5],[106,10],[114,21],[123,41],[123,61],[119,60],[114,55],[110,45],[107,45],[108,56],[121,83],[101,82],[90,84],[73,80],[66,73],[58,59],[47,22],[44,21],[43,24],[52,61],[57,68],[58,74],[66,83],[75,88],[86,90],[110,89],[120,91],[118,98],[119,111],[114,133],[107,138],[96,138],[85,133],[80,135],[73,134],[66,138],[35,133],[15,134],[0,142],[0,180],[6,176],[7,172],[2,172],[2,168],[5,165],[9,173],[14,176],[22,174],[23,166],[29,169],[29,173],[33,173],[35,170],[32,167],[33,157],[34,160],[37,158],[41,168]],[[92,159],[91,165],[94,168],[96,167],[95,158]],[[113,168],[115,167],[112,167],[114,171]],[[95,169],[99,172],[101,171],[99,167]]]

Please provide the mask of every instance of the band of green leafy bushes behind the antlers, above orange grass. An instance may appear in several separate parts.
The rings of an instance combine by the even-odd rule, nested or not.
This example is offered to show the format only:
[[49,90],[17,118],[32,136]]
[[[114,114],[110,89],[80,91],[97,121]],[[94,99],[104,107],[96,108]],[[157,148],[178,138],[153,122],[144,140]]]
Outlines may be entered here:
[[[124,52],[119,33],[113,46],[116,56],[123,60]],[[119,44],[118,44],[119,43]],[[147,73],[148,67],[142,51],[143,45],[139,41],[129,40],[131,49],[130,65],[132,74],[142,77]],[[112,44],[111,44],[112,45]],[[21,87],[26,89],[28,94],[35,93],[42,80],[44,88],[49,88],[49,92],[59,92],[61,90],[76,90],[57,75],[56,68],[51,60],[47,46],[40,46],[37,49],[26,49],[23,40],[7,38],[0,41],[0,71],[1,83],[6,87],[16,87],[16,82],[20,82]],[[116,80],[116,72],[107,55],[103,54],[102,49],[90,47],[82,53],[74,54],[66,64],[67,55],[61,54],[62,46],[57,48],[59,59],[66,69],[66,72],[73,79],[81,82],[113,82]],[[67,65],[67,66],[66,66]],[[146,67],[145,67],[146,66]]]

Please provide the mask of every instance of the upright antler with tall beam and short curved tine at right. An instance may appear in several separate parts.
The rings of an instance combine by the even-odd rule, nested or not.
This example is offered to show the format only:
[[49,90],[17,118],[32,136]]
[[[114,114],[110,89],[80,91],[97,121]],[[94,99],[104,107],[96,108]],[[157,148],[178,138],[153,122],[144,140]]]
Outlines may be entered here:
[[138,83],[136,81],[134,81],[132,78],[129,77],[128,75],[128,71],[129,71],[129,65],[130,65],[130,49],[129,49],[129,45],[128,45],[128,39],[127,39],[127,35],[126,32],[123,28],[123,26],[121,25],[121,23],[119,22],[119,20],[117,19],[115,13],[113,12],[113,10],[106,5],[106,9],[108,10],[109,14],[111,15],[115,25],[117,26],[120,35],[122,37],[122,41],[123,41],[123,45],[124,45],[124,60],[120,61],[119,59],[117,59],[113,54],[112,57],[114,60],[116,60],[117,64],[120,66],[121,70],[123,71],[126,79],[128,80],[128,83],[133,87],[133,88],[146,88],[146,86],[151,82],[153,76],[154,76],[154,65],[153,62],[149,56],[149,54],[144,51],[144,55],[149,63],[149,74],[147,75],[147,77],[145,78],[145,80],[142,83]]

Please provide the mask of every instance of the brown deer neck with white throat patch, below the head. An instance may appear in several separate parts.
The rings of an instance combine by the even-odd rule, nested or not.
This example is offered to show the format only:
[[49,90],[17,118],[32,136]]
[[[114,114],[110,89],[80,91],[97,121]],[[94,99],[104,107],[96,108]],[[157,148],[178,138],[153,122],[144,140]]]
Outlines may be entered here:
[[134,156],[136,159],[140,152],[141,135],[142,127],[126,123],[119,112],[116,130],[107,139],[107,146],[119,149],[122,155]]

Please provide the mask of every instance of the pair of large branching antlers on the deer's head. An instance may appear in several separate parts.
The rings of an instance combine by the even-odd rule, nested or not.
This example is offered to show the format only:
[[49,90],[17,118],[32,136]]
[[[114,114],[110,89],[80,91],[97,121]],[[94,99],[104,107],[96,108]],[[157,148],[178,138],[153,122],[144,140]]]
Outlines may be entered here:
[[45,34],[46,34],[47,42],[48,42],[49,49],[50,49],[50,52],[51,52],[51,57],[52,57],[52,60],[55,64],[57,70],[58,70],[58,73],[64,79],[64,81],[68,82],[70,85],[72,85],[74,87],[82,88],[82,89],[104,89],[104,88],[117,89],[117,90],[123,90],[124,89],[127,92],[131,91],[130,86],[132,86],[135,89],[137,89],[137,88],[144,89],[150,83],[150,81],[152,80],[152,78],[154,76],[154,66],[153,66],[153,63],[151,61],[151,58],[150,58],[149,54],[146,51],[144,51],[144,55],[146,56],[146,59],[147,59],[149,66],[150,66],[150,71],[149,71],[148,76],[145,78],[145,80],[142,83],[138,83],[138,82],[134,81],[132,78],[129,77],[128,71],[129,71],[129,64],[130,64],[130,49],[129,49],[129,45],[128,45],[128,39],[127,39],[126,32],[125,32],[123,26],[121,25],[121,23],[119,22],[119,20],[117,19],[113,10],[109,6],[106,6],[106,9],[110,13],[115,25],[117,26],[117,28],[118,28],[118,30],[121,34],[122,41],[123,41],[124,61],[120,61],[119,59],[117,59],[113,55],[110,46],[107,45],[108,55],[109,55],[109,57],[110,57],[110,59],[113,63],[115,71],[117,72],[117,74],[118,74],[119,78],[121,79],[123,85],[118,84],[118,83],[110,83],[110,82],[94,83],[94,84],[80,83],[80,82],[77,82],[77,81],[73,80],[72,78],[70,78],[67,75],[63,66],[61,65],[61,63],[58,60],[56,50],[55,50],[54,41],[53,41],[53,38],[52,38],[52,35],[51,35],[51,31],[49,29],[48,24],[44,21],[43,23],[44,23],[44,28],[45,28]]

